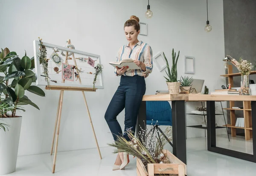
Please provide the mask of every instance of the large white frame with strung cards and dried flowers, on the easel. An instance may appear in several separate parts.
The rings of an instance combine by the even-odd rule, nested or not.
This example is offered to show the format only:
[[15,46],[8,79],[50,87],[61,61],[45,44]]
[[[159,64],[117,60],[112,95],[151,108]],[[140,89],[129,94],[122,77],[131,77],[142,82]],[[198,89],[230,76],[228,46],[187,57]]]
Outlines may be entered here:
[[[34,44],[34,57],[35,57],[35,76],[37,78],[36,85],[47,86],[48,85],[47,81],[42,73],[42,71],[43,71],[42,64],[40,64],[39,58],[38,58],[40,42],[38,40],[34,40],[33,44]],[[51,78],[53,80],[58,80],[57,83],[50,82],[50,85],[64,86],[64,87],[93,88],[93,80],[94,80],[93,72],[95,71],[95,69],[92,66],[90,66],[89,64],[87,64],[86,59],[82,60],[82,58],[90,57],[90,58],[93,58],[93,60],[95,60],[96,63],[101,64],[100,55],[79,51],[76,49],[70,49],[70,48],[67,48],[64,46],[58,46],[58,45],[46,43],[46,42],[44,42],[44,46],[47,49],[47,58],[49,58],[49,55],[52,53],[53,49],[55,49],[55,48],[57,48],[63,52],[74,53],[75,58],[77,59],[76,63],[77,63],[78,68],[81,68],[84,71],[84,73],[80,73],[81,84],[79,84],[79,81],[65,81],[65,83],[62,83],[61,82],[62,81],[62,78],[61,78],[62,72],[60,72],[60,74],[55,73],[53,71],[53,67],[55,67],[56,64],[53,61],[49,60],[48,61],[49,78]],[[72,60],[68,60],[68,62],[69,62],[69,64],[74,65]],[[92,74],[87,74],[88,72],[92,72]],[[83,76],[83,75],[85,75],[85,76]],[[97,76],[95,88],[96,89],[104,89],[102,72]]]

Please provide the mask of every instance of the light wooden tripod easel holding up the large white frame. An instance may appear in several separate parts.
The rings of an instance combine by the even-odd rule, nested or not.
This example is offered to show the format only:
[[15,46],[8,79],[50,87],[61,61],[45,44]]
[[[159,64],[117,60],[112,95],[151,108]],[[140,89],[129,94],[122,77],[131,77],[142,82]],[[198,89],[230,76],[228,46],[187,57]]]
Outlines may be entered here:
[[[71,44],[70,40],[68,40],[67,44]],[[77,73],[79,74],[79,70],[78,70],[78,67],[77,67],[77,64],[76,64],[76,58],[74,56],[74,53],[72,53],[72,58],[73,58],[75,66],[76,66]],[[65,63],[68,63],[67,60],[68,60],[68,52],[66,53],[66,61],[65,61]],[[81,84],[80,74],[79,74],[79,78],[78,79],[79,79],[79,83]],[[62,80],[62,82],[64,83],[65,80]],[[61,124],[61,110],[62,110],[62,104],[63,104],[64,90],[81,91],[82,92],[82,95],[83,95],[83,98],[84,98],[84,103],[85,103],[85,106],[86,106],[86,109],[87,109],[87,113],[88,113],[88,116],[89,116],[90,124],[91,124],[92,130],[93,130],[93,135],[94,135],[94,138],[95,138],[95,141],[96,141],[97,149],[99,151],[99,156],[100,156],[100,159],[102,159],[102,156],[101,156],[101,153],[100,153],[100,150],[99,150],[98,141],[97,141],[97,138],[96,138],[96,135],[95,135],[94,127],[93,127],[93,122],[91,120],[90,111],[89,111],[89,108],[88,108],[88,105],[87,105],[87,101],[86,101],[86,98],[85,98],[85,95],[84,95],[84,91],[95,92],[96,90],[93,90],[92,88],[53,86],[53,85],[51,85],[50,87],[46,86],[45,89],[48,89],[48,90],[49,89],[51,89],[51,90],[60,90],[61,91],[60,92],[60,96],[59,96],[59,101],[58,101],[58,109],[57,109],[57,115],[56,115],[56,121],[55,121],[55,129],[54,129],[53,140],[52,140],[52,148],[51,148],[51,155],[52,155],[52,151],[53,151],[53,147],[54,147],[54,142],[55,142],[55,151],[54,151],[54,160],[53,160],[52,173],[55,173],[57,150],[58,150],[58,138],[59,138],[60,124]],[[57,133],[56,133],[56,130],[57,130]],[[55,135],[56,135],[56,141],[55,141]]]

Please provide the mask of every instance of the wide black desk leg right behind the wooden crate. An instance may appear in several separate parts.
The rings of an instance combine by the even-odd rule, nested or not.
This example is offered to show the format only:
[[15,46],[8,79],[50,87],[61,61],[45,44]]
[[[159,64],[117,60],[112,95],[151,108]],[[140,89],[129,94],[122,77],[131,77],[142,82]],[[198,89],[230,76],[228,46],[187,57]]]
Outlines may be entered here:
[[186,164],[185,101],[172,101],[173,154]]

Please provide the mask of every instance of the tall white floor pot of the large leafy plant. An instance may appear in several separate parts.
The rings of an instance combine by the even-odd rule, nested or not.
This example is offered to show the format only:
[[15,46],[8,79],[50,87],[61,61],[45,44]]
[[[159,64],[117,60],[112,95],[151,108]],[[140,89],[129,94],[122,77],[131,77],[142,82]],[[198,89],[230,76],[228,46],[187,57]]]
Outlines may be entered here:
[[0,118],[8,130],[0,129],[0,175],[15,172],[22,117]]

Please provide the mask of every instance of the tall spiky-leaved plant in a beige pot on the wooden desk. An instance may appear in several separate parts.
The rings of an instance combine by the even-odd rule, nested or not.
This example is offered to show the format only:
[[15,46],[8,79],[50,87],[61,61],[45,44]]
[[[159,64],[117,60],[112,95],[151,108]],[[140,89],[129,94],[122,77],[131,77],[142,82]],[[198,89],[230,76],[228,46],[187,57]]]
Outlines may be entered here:
[[179,94],[180,92],[180,82],[177,82],[177,61],[180,55],[180,51],[178,52],[177,58],[176,58],[176,52],[174,52],[174,49],[172,49],[172,70],[170,71],[169,63],[166,59],[165,54],[163,53],[163,56],[166,60],[166,65],[168,69],[168,73],[166,72],[168,78],[166,78],[166,83],[168,85],[169,94]]

